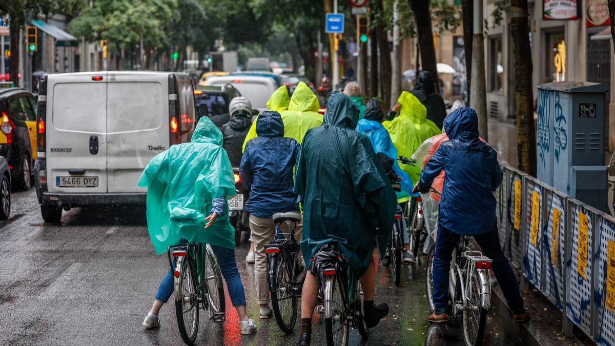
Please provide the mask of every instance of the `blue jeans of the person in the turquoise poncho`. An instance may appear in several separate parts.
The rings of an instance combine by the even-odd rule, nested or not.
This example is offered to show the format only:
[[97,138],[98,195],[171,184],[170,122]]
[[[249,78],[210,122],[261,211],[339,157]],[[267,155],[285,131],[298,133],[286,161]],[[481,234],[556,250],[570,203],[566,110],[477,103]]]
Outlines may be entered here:
[[[220,271],[224,280],[226,281],[226,288],[228,288],[229,296],[231,297],[232,306],[237,307],[245,305],[245,292],[244,284],[241,282],[239,276],[239,270],[237,270],[237,262],[235,261],[235,250],[228,247],[216,246],[210,244],[213,250],[213,254],[218,259],[220,265]],[[173,272],[169,268],[169,272],[164,276],[158,292],[156,293],[156,299],[166,303],[169,297],[173,294]]]

